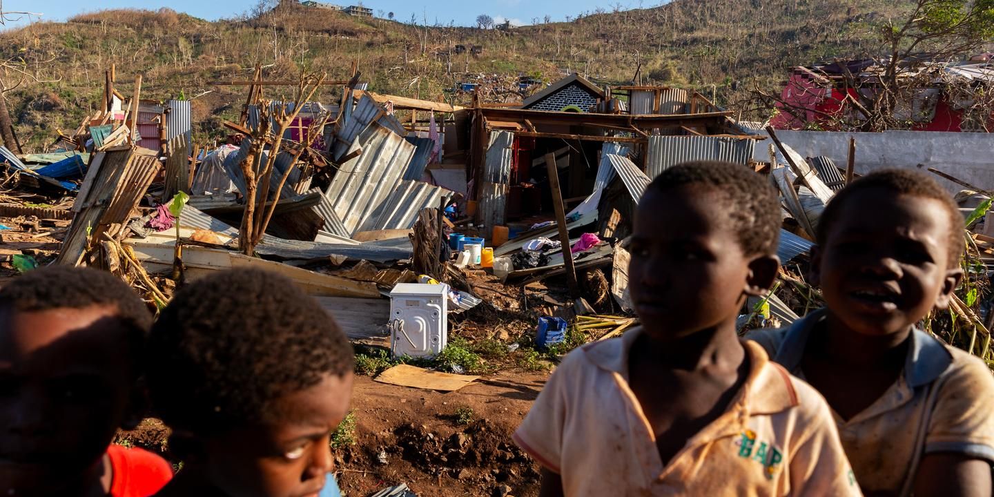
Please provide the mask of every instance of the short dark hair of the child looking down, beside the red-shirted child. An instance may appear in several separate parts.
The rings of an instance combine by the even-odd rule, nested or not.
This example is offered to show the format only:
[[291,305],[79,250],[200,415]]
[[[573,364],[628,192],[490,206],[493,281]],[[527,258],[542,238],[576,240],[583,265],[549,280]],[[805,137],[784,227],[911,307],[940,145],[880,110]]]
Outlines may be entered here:
[[289,278],[233,269],[182,288],[152,326],[155,414],[195,434],[272,420],[270,403],[353,369],[352,347]]

